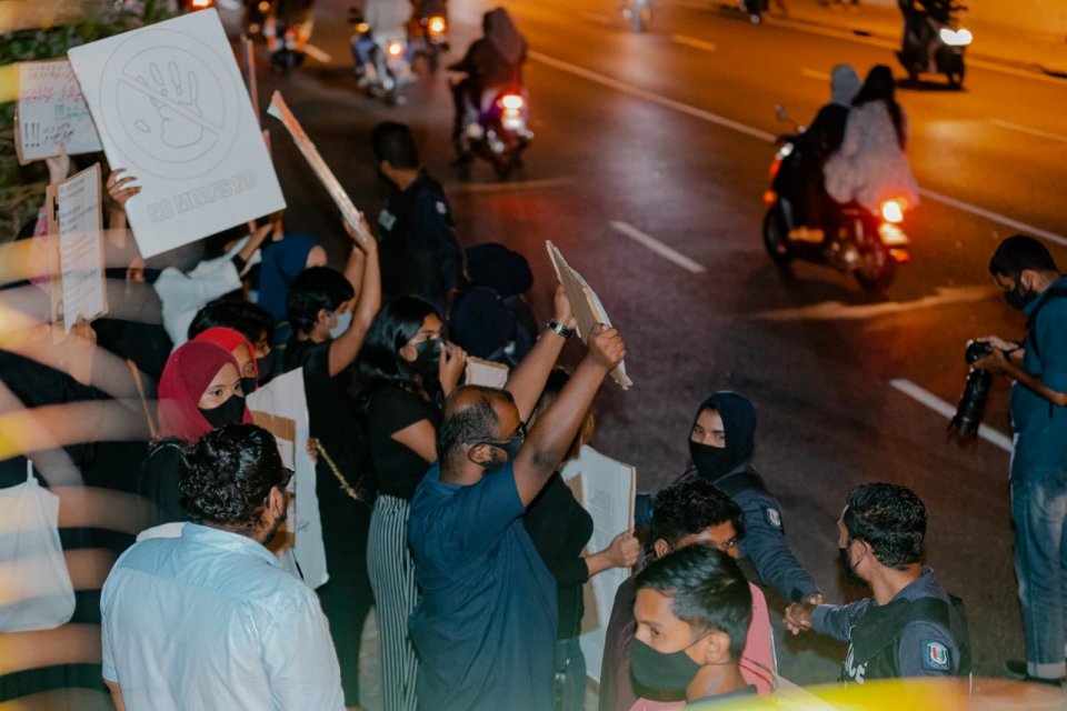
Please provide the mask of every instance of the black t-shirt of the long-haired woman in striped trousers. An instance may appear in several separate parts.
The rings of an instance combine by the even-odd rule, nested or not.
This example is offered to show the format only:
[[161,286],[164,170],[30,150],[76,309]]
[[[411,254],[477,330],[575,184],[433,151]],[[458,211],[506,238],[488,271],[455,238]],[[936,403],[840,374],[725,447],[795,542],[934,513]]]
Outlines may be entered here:
[[392,439],[396,432],[420,420],[429,420],[436,431],[441,423],[441,411],[410,390],[396,385],[382,385],[370,395],[367,432],[379,493],[410,501],[415,488],[429,471],[430,462]]

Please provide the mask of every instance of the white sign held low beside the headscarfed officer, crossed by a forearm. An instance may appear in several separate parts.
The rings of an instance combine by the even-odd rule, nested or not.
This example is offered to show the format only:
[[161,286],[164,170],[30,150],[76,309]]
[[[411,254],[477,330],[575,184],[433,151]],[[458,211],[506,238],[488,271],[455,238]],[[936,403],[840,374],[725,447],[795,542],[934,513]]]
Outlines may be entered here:
[[[587,553],[602,551],[612,539],[634,527],[634,498],[637,493],[637,470],[584,445],[578,459],[560,471],[578,502],[592,517],[592,538]],[[611,618],[615,593],[630,577],[628,568],[610,568],[598,573],[584,592],[586,614],[581,620],[578,643],[586,658],[588,675],[600,681],[604,644]]]

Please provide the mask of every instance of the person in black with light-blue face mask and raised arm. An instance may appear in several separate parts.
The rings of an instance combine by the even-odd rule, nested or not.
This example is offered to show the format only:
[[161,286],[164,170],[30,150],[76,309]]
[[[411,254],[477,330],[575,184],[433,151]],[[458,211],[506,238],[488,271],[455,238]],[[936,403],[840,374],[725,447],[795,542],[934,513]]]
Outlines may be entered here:
[[[372,595],[367,577],[370,528],[366,457],[360,452],[350,367],[381,303],[378,250],[373,240],[346,228],[353,249],[345,274],[328,267],[302,271],[289,288],[287,311],[293,336],[286,371],[303,369],[311,437],[318,441],[316,495],[322,520],[330,579],[318,589],[341,664],[345,703],[359,703],[359,648]],[[366,221],[363,233],[370,230]]]

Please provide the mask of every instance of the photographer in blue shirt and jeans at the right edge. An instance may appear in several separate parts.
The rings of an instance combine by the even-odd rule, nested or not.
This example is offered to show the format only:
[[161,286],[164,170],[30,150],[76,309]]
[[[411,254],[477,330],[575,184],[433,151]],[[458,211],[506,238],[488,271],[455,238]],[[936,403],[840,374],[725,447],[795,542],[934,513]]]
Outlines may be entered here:
[[1026,633],[1026,662],[1007,670],[1028,681],[1059,685],[1067,673],[1067,278],[1036,239],[1016,234],[989,260],[1007,302],[1026,314],[1026,337],[1014,343],[978,339],[991,354],[975,368],[1010,375],[1011,519],[1015,571]]

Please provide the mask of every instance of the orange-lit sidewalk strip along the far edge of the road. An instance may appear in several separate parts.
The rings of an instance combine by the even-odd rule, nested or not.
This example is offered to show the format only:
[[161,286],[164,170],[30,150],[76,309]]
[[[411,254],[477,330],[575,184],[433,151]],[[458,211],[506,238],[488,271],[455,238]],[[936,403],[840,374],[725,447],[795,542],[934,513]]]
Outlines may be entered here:
[[[850,0],[839,4],[824,4],[819,0],[785,0],[789,14],[777,11],[770,3],[771,21],[802,23],[831,28],[872,37],[894,43],[900,42],[903,20],[896,2]],[[1067,38],[1048,32],[1016,30],[961,12],[960,26],[969,29],[974,43],[967,48],[967,58],[984,60],[1024,71],[1061,77],[1067,81]]]

